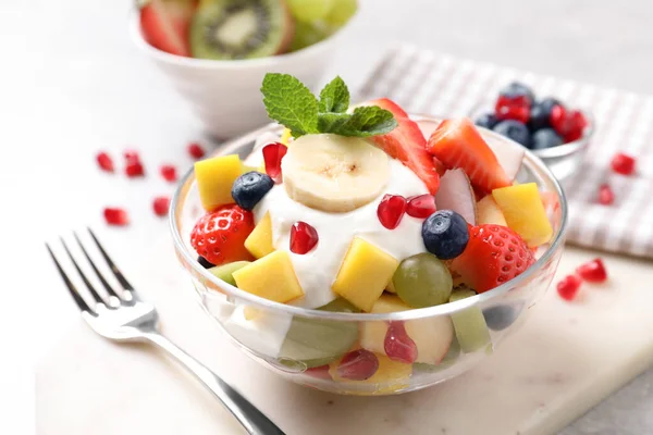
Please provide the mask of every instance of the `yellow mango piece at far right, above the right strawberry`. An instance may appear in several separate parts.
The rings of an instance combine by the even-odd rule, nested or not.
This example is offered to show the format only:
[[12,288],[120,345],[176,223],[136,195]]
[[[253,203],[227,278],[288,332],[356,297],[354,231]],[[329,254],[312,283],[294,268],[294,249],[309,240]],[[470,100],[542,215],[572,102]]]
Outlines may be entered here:
[[530,248],[551,239],[553,228],[546,217],[535,183],[494,189],[492,197],[503,212],[508,226],[519,234]]

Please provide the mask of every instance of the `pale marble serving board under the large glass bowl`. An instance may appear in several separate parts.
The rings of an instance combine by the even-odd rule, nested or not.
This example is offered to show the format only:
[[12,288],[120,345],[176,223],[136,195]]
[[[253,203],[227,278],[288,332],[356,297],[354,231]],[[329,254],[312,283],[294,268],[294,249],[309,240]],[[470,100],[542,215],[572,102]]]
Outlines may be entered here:
[[[170,241],[153,246],[147,262],[108,245],[157,303],[164,333],[288,435],[555,434],[653,363],[653,264],[604,256],[609,284],[583,287],[571,303],[552,288],[494,356],[458,378],[394,397],[321,393],[273,375],[230,344],[174,266]],[[594,256],[568,248],[557,277]],[[36,381],[39,435],[243,433],[174,362],[146,346],[109,343],[81,319],[41,361]]]

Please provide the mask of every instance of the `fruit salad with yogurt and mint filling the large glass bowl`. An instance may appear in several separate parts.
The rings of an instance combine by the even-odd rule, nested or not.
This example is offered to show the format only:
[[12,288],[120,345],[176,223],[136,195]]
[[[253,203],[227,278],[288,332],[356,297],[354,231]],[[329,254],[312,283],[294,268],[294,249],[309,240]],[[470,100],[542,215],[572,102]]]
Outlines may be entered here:
[[[261,91],[283,133],[245,160],[195,164],[206,213],[190,245],[224,283],[307,309],[392,313],[492,290],[550,241],[547,197],[515,179],[522,148],[486,141],[468,119],[417,123],[387,99],[350,107],[340,77],[313,96],[268,74]],[[268,360],[383,394],[491,348],[490,328],[510,324],[504,308],[356,323],[236,302],[223,325]]]

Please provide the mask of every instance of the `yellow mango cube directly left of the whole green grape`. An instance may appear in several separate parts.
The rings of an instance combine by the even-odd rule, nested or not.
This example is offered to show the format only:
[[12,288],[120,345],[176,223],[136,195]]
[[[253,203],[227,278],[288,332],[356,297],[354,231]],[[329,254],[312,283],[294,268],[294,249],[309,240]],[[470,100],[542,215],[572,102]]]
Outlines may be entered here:
[[387,252],[355,237],[331,289],[362,311],[370,312],[398,265],[399,261]]

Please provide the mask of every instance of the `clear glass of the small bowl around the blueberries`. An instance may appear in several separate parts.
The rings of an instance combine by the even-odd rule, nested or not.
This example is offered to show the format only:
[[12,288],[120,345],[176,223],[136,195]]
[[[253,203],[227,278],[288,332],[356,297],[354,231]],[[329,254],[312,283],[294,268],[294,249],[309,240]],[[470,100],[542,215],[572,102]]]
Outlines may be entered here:
[[[494,103],[483,102],[477,104],[471,112],[469,117],[475,121],[478,116],[483,113],[493,113]],[[589,110],[581,110],[588,120],[588,125],[582,132],[580,139],[571,142],[563,144],[557,147],[531,150],[533,154],[539,157],[549,166],[553,175],[557,179],[564,182],[570,175],[574,175],[580,167],[582,160],[587,153],[588,148],[594,136],[594,117]]]

